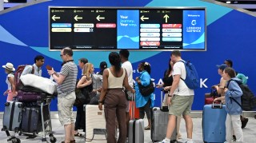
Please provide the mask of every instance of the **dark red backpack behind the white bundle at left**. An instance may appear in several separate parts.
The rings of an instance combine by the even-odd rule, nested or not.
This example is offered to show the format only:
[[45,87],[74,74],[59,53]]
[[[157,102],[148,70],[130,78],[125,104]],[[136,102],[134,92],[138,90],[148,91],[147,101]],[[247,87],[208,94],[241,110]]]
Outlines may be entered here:
[[[22,88],[22,81],[20,80],[20,77],[22,75],[23,70],[25,69],[25,67],[28,65],[20,65],[18,66],[16,72],[14,73],[14,85],[15,85],[15,89],[16,91],[18,91],[19,89]],[[34,66],[32,66],[32,74],[34,74]]]

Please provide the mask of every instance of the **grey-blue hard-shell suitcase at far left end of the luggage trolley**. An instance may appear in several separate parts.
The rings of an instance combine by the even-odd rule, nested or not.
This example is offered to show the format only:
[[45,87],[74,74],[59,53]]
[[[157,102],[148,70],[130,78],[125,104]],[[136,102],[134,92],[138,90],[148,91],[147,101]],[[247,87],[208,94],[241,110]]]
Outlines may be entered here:
[[22,122],[22,102],[8,101],[5,104],[2,126],[3,130],[18,132]]

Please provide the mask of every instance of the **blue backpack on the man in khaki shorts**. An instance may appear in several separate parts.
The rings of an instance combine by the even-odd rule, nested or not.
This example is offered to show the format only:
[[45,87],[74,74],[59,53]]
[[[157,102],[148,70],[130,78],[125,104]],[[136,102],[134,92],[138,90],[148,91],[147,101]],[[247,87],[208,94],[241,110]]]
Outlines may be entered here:
[[194,65],[191,62],[184,62],[184,61],[179,61],[183,62],[185,69],[186,69],[186,78],[182,79],[182,81],[185,81],[186,86],[190,89],[198,89],[199,88],[199,77],[198,77],[198,72],[195,70]]

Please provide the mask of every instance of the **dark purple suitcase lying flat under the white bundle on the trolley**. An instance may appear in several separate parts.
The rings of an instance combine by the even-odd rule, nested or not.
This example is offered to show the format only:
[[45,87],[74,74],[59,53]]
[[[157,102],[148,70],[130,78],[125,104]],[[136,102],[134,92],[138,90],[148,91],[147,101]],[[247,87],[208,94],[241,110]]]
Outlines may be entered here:
[[19,90],[17,100],[22,102],[41,101],[46,98],[46,93],[24,92]]

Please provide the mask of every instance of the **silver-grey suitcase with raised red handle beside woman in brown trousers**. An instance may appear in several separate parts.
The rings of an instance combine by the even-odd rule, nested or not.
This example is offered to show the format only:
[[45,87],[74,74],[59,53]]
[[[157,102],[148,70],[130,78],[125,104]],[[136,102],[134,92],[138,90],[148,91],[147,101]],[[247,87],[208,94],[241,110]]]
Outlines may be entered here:
[[[134,96],[132,96],[134,97]],[[129,133],[128,133],[128,143],[142,143],[144,142],[144,120],[143,119],[134,119],[134,108],[135,101],[132,105],[132,120],[129,121]]]

